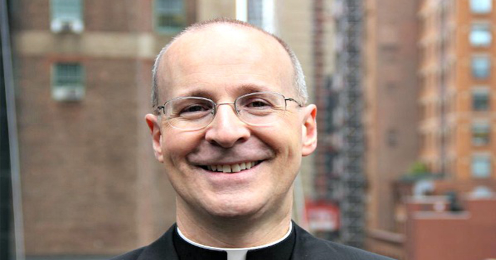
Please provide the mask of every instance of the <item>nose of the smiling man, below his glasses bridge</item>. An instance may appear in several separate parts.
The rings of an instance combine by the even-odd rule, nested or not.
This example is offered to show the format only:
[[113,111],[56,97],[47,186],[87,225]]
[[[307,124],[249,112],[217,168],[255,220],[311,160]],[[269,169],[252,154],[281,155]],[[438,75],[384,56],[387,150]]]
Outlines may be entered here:
[[223,148],[233,147],[236,143],[248,140],[250,131],[247,125],[238,118],[232,104],[219,105],[215,118],[207,126],[205,139],[211,144]]

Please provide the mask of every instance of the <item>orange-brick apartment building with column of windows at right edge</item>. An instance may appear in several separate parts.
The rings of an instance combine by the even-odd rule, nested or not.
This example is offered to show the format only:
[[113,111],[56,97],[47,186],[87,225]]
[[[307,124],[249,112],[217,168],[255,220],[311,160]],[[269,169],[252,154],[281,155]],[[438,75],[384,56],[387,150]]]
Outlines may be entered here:
[[495,179],[494,0],[424,0],[419,9],[420,159],[444,179]]

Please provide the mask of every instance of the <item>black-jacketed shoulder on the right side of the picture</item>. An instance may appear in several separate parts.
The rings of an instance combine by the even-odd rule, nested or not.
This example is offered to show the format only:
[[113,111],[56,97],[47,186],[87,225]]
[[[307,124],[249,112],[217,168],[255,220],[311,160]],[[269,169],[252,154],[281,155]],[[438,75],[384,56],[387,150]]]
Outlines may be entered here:
[[323,240],[295,225],[295,260],[392,260],[365,250]]

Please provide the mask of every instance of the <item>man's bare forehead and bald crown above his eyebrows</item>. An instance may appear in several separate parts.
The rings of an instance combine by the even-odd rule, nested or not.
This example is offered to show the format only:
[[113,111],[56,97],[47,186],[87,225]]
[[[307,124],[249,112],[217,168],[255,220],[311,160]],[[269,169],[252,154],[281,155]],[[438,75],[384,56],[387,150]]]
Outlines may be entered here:
[[161,101],[194,92],[240,95],[247,89],[294,94],[293,66],[281,44],[255,29],[229,24],[177,39],[161,60],[157,81]]

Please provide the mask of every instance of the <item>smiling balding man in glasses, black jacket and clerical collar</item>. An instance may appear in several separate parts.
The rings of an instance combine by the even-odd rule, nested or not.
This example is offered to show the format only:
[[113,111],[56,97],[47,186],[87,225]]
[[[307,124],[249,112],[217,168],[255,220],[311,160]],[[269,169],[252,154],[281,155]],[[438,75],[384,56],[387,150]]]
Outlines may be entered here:
[[293,181],[316,146],[316,107],[278,38],[235,20],[187,28],[154,65],[153,150],[177,224],[116,260],[381,260],[291,222]]

